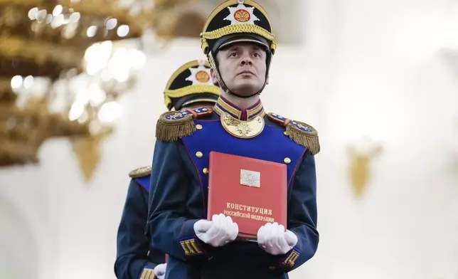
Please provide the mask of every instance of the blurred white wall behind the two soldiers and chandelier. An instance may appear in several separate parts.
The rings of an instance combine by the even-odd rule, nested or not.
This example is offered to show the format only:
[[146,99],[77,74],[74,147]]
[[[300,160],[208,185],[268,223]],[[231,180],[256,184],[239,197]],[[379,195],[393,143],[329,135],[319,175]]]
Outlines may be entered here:
[[[205,11],[205,19],[219,1],[197,2],[193,7]],[[262,93],[264,105],[313,125],[321,141],[321,243],[290,277],[457,279],[458,1],[265,6],[283,41]],[[115,278],[128,172],[151,163],[169,75],[187,60],[204,58],[198,38],[180,36],[163,46],[158,28],[122,44],[132,50],[143,43],[134,56],[141,66],[132,66],[132,88],[117,89],[122,95],[105,107],[106,121],[98,125],[109,123],[110,135],[95,140],[91,132],[83,143],[50,137],[38,149],[38,163],[0,168],[0,278]],[[70,87],[82,84],[84,79]],[[16,89],[18,97],[26,94]],[[82,109],[75,112],[75,100],[63,106],[70,120],[83,115]],[[102,104],[92,103],[98,109]],[[81,152],[97,154],[97,147],[98,157]],[[87,157],[97,164],[83,170]]]

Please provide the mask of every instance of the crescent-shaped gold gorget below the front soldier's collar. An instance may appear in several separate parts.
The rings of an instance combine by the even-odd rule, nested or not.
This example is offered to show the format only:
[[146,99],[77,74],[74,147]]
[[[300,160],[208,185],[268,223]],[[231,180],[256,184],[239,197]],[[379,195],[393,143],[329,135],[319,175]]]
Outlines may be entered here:
[[243,121],[235,119],[227,112],[224,112],[221,115],[221,125],[223,125],[224,130],[234,137],[251,139],[260,135],[264,130],[264,118],[257,116],[255,119]]

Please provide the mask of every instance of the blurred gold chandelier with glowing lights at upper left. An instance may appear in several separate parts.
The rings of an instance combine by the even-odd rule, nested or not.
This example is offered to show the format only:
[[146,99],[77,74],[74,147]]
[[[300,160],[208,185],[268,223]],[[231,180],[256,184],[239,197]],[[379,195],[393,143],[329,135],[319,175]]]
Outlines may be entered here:
[[69,137],[89,180],[146,61],[138,38],[174,37],[172,11],[188,2],[0,0],[0,166],[36,163],[46,139]]

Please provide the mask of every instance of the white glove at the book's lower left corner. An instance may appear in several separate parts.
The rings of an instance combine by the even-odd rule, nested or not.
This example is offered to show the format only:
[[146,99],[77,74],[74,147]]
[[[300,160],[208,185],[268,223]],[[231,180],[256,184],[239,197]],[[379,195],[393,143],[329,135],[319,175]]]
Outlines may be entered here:
[[213,247],[223,246],[234,241],[238,235],[238,225],[230,216],[213,215],[211,221],[199,220],[194,223],[196,236]]

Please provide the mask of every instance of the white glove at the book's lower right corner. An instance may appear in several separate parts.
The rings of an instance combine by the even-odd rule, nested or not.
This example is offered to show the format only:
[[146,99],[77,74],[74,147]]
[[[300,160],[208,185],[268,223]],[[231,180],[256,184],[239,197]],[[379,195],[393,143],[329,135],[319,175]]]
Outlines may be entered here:
[[257,231],[257,244],[267,253],[284,255],[297,244],[297,236],[278,223],[266,223]]

